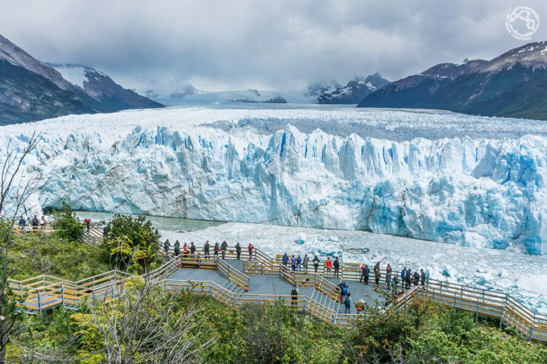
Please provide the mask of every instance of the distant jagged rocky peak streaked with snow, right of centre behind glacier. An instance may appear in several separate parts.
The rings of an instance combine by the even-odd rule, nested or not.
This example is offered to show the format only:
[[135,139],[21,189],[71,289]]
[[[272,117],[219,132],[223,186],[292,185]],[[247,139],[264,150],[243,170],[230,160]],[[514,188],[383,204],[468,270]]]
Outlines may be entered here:
[[348,82],[345,86],[338,86],[334,89],[318,91],[317,101],[320,104],[358,104],[365,96],[380,90],[390,83],[388,80],[375,73],[367,77],[358,76]]

